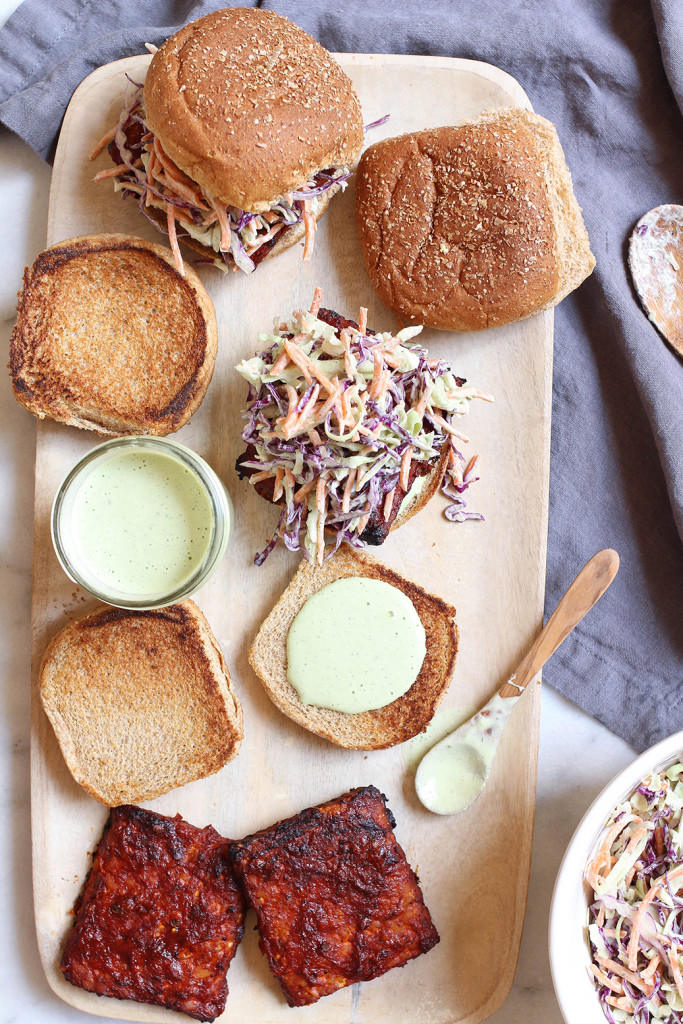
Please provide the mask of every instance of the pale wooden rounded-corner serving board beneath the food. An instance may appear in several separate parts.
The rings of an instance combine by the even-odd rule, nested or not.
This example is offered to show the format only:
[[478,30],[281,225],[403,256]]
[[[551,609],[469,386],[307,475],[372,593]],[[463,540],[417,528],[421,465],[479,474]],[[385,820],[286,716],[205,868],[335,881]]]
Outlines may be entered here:
[[[124,73],[139,80],[148,57],[100,68],[78,88],[67,113],[50,196],[47,242],[97,231],[159,236],[136,205],[94,183],[106,155],[89,164],[86,154],[116,121]],[[517,83],[488,65],[433,57],[339,55],[359,94],[366,122],[390,114],[369,132],[389,135],[453,124],[490,106],[523,105]],[[301,808],[374,783],[388,797],[396,836],[420,874],[427,905],[441,936],[435,949],[402,970],[356,985],[303,1011],[288,1008],[258,950],[254,921],[228,974],[230,994],[222,1020],[280,1024],[305,1017],[308,1024],[474,1024],[507,995],[517,959],[531,852],[539,734],[539,688],[515,709],[492,778],[480,799],[459,817],[424,810],[414,790],[415,741],[372,753],[338,749],[284,718],[249,668],[250,643],[297,565],[297,556],[274,551],[253,565],[275,523],[233,470],[246,385],[233,371],[257,350],[257,334],[273,316],[307,306],[314,287],[324,303],[355,316],[370,308],[369,324],[395,329],[366,275],[353,213],[353,187],[331,204],[321,222],[312,260],[299,246],[268,261],[252,276],[201,270],[216,306],[219,355],[202,409],[178,439],[204,456],[225,481],[237,529],[213,580],[197,595],[211,623],[244,706],[245,740],[239,758],[212,778],[154,801],[165,814],[179,812],[197,825],[213,823],[230,838],[263,827]],[[552,312],[523,324],[473,335],[425,331],[435,356],[496,396],[474,402],[465,431],[468,454],[478,453],[481,480],[468,492],[484,522],[450,524],[444,500],[392,534],[377,553],[389,565],[458,609],[460,652],[442,708],[483,703],[508,677],[537,633],[543,613],[550,454]],[[98,998],[68,984],[58,963],[70,911],[89,866],[106,809],[71,778],[40,706],[36,674],[50,637],[92,599],[59,568],[50,541],[50,506],[72,463],[97,442],[91,433],[49,422],[39,425],[36,457],[33,596],[32,808],[36,925],[48,981],[67,1002],[91,1014],[163,1021],[180,1015],[153,1007]],[[186,1018],[182,1018],[186,1020]]]

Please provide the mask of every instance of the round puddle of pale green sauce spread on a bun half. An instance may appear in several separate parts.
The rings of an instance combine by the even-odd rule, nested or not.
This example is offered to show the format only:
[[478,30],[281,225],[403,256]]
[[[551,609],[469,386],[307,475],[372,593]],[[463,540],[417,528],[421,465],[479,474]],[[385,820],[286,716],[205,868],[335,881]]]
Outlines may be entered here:
[[380,580],[349,577],[309,597],[287,637],[287,678],[305,705],[347,715],[384,708],[418,678],[425,631]]

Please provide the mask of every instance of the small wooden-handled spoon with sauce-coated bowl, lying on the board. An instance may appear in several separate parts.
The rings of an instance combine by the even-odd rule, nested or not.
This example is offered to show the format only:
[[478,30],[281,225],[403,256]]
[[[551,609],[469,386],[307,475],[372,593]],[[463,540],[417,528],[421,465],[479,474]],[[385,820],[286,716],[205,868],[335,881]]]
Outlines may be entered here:
[[503,727],[527,683],[554,654],[616,575],[618,555],[598,551],[564,594],[515,674],[488,703],[432,746],[420,762],[415,788],[435,814],[458,814],[481,793],[494,763]]

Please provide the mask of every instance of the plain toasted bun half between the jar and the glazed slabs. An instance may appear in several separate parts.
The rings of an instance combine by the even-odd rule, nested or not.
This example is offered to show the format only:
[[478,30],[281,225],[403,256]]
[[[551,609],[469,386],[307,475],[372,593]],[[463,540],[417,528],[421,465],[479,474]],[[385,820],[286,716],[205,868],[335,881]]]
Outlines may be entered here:
[[39,687],[72,775],[112,807],[211,775],[240,749],[242,708],[193,601],[99,605],[48,645]]

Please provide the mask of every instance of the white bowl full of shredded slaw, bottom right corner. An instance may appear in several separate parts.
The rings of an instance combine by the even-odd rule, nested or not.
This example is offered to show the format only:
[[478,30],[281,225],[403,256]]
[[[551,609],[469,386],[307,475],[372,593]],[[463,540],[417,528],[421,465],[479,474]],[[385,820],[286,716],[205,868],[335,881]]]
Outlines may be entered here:
[[566,849],[549,946],[567,1024],[605,1024],[610,1017],[615,1024],[683,1021],[681,762],[683,731],[645,751],[605,786]]

